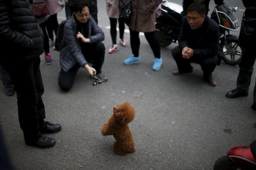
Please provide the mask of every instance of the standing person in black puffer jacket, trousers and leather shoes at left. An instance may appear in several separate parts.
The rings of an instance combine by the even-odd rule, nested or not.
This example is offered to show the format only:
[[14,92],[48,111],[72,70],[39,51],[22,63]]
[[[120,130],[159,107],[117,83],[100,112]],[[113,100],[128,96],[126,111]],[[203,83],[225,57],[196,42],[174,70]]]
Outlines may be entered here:
[[0,65],[15,86],[26,145],[47,148],[55,140],[41,133],[55,133],[61,126],[44,121],[44,86],[39,68],[39,56],[44,52],[42,36],[29,0],[0,0]]

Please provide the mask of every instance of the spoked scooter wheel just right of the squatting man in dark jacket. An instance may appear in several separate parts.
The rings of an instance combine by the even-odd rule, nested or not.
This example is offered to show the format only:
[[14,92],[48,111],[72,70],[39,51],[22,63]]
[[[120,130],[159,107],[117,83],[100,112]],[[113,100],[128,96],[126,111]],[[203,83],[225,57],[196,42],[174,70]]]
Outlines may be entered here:
[[239,63],[242,56],[242,49],[236,42],[224,41],[220,42],[220,49],[223,51],[222,60],[230,65],[236,65]]

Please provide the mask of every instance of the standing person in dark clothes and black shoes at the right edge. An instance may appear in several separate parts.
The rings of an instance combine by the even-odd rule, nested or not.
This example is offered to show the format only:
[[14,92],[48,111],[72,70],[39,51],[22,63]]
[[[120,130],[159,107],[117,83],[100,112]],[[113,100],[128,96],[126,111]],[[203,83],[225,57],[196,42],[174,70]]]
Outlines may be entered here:
[[[226,94],[227,98],[248,96],[253,66],[256,59],[256,0],[243,0],[246,8],[241,24],[239,43],[242,46],[242,57],[238,63],[239,74],[236,81],[236,89]],[[256,84],[253,91],[253,105],[256,111]]]

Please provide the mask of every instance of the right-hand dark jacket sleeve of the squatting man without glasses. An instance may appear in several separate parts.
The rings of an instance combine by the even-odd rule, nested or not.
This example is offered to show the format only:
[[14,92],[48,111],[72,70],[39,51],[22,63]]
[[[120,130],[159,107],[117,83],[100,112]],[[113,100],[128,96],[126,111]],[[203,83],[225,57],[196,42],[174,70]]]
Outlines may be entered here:
[[203,49],[193,49],[193,56],[199,56],[202,59],[211,58],[217,55],[219,51],[219,42],[220,42],[220,29],[219,27],[215,27],[211,30],[206,36],[208,36],[207,40],[209,42],[207,48]]

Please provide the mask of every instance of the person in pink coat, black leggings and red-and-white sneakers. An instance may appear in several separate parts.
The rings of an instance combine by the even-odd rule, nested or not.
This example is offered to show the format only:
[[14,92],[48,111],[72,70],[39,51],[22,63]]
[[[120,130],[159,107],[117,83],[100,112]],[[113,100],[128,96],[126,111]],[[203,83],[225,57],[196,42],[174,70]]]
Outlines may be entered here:
[[119,23],[119,43],[122,46],[126,46],[127,43],[124,40],[124,22],[119,19],[119,8],[118,8],[118,0],[106,0],[106,8],[107,8],[107,14],[109,16],[110,20],[110,35],[112,38],[112,45],[109,48],[108,52],[113,53],[118,49],[118,45],[116,43],[116,25],[117,25],[117,20]]

